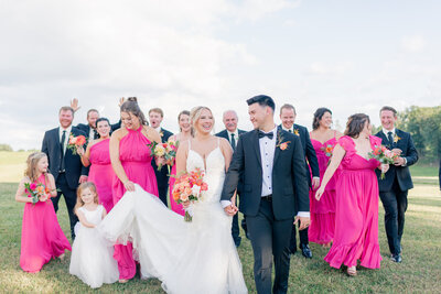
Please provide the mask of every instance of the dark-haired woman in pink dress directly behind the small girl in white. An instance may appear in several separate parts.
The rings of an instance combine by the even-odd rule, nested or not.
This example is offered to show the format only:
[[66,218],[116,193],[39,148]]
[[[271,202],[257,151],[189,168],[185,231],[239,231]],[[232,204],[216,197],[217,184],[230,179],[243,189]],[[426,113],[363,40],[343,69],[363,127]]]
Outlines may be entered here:
[[84,166],[89,166],[88,182],[93,182],[98,190],[99,203],[109,213],[114,207],[112,181],[115,177],[110,162],[109,142],[110,123],[106,118],[96,121],[99,139],[89,142],[86,152],[83,148],[78,149]]

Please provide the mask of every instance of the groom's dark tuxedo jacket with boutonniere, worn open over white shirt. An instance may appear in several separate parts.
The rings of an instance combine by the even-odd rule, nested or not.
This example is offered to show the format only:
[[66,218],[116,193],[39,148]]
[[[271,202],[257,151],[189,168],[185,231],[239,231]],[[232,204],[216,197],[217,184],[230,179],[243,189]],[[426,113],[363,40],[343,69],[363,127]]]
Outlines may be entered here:
[[[297,208],[309,211],[309,188],[304,154],[299,137],[283,130],[277,131],[277,143],[289,142],[286,150],[276,146],[272,166],[272,210],[277,220],[293,218]],[[279,140],[280,139],[280,140]],[[244,188],[239,209],[246,216],[259,211],[262,189],[262,165],[258,130],[239,137],[233,154],[220,199],[229,200],[243,175]]]

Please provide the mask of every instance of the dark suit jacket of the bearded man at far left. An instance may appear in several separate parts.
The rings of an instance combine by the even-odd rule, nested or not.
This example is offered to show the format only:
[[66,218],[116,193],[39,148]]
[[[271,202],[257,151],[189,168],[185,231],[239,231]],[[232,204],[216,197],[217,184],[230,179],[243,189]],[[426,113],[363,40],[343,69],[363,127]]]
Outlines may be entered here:
[[[86,135],[82,130],[72,127],[71,131],[75,137]],[[66,140],[69,134],[66,133]],[[43,139],[42,152],[46,153],[49,159],[49,170],[55,177],[55,182],[58,177],[60,165],[61,165],[61,138],[60,128],[46,131]],[[78,187],[78,181],[80,175],[87,175],[88,168],[82,164],[78,154],[74,155],[69,149],[66,148],[66,154],[64,155],[64,166],[66,170],[66,179],[69,188],[76,189]]]

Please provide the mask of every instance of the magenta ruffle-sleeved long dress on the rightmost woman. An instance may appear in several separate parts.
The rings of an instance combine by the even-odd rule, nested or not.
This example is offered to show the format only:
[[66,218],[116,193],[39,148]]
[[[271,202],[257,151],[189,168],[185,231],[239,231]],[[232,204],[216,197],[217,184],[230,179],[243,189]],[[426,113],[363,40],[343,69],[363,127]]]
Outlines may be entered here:
[[[370,145],[381,139],[370,135]],[[378,244],[378,182],[374,170],[379,162],[356,153],[352,138],[344,135],[338,144],[346,151],[335,186],[334,242],[324,260],[332,268],[361,265],[379,269],[381,255]]]

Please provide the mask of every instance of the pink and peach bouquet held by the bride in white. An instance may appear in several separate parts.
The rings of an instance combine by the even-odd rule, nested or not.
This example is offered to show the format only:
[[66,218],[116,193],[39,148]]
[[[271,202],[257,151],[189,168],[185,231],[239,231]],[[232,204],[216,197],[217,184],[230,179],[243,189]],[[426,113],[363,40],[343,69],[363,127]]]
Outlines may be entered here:
[[[172,192],[173,199],[176,204],[197,202],[201,199],[201,193],[208,189],[208,185],[204,182],[204,175],[201,168],[196,168],[176,178]],[[184,220],[192,221],[192,215],[187,209],[185,209]]]

